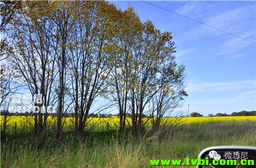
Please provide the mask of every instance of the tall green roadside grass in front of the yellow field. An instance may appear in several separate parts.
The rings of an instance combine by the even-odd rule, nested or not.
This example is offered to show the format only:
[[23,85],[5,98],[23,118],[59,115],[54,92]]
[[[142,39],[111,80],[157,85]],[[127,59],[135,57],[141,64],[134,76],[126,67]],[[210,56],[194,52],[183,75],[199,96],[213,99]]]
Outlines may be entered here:
[[[46,146],[36,150],[29,133],[1,142],[1,167],[151,167],[150,159],[197,158],[209,146],[256,146],[256,122],[212,122],[182,125],[159,138],[122,136],[114,131],[61,140],[49,134]],[[160,167],[160,166],[159,166]]]

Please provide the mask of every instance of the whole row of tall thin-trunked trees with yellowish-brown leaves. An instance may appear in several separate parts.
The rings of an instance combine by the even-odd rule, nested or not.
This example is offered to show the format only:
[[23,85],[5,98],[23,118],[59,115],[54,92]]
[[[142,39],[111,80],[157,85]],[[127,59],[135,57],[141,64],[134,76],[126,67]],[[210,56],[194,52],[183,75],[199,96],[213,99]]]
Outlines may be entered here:
[[[31,97],[41,94],[43,103],[34,105],[57,107],[57,137],[69,111],[74,111],[74,131],[84,131],[99,97],[111,103],[98,113],[115,105],[119,131],[124,133],[130,113],[133,132],[142,135],[145,114],[157,131],[162,117],[187,96],[171,33],[157,30],[149,20],[141,22],[130,7],[121,11],[104,1],[26,1],[1,2],[1,8],[1,59],[6,63],[1,76],[10,79],[3,80],[7,87],[1,88],[1,99],[13,93],[7,91],[14,83],[25,86]],[[49,114],[34,115],[34,133],[43,146]]]

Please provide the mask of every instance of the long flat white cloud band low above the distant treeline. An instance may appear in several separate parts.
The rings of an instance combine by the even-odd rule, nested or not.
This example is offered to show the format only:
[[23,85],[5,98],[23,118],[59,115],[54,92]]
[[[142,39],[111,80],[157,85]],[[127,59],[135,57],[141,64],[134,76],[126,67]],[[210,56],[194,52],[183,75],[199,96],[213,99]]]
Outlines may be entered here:
[[188,83],[187,92],[228,92],[240,89],[255,89],[256,80],[234,82],[193,82]]

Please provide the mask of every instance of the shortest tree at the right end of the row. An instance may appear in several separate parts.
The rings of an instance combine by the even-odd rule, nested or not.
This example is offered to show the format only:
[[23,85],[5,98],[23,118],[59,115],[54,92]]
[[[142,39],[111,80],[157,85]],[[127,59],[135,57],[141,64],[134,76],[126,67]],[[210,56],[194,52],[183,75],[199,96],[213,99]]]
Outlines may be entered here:
[[[169,48],[166,48],[169,49]],[[158,92],[152,99],[151,121],[153,133],[160,131],[169,119],[173,110],[179,107],[183,97],[188,96],[184,91],[184,66],[177,66],[172,57],[172,51],[166,52],[164,64],[160,66],[158,77]],[[168,57],[169,56],[169,57]]]

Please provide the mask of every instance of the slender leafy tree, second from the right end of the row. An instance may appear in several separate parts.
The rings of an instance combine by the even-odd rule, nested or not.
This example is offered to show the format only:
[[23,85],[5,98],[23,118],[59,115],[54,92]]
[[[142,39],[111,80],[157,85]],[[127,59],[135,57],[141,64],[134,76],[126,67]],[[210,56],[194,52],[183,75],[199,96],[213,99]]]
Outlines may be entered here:
[[166,38],[162,38],[152,22],[143,25],[143,32],[136,45],[133,59],[132,88],[130,91],[132,126],[138,135],[143,134],[143,114],[145,107],[157,92],[156,76],[161,64],[161,53]]

